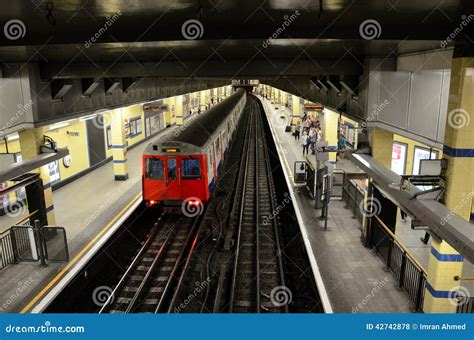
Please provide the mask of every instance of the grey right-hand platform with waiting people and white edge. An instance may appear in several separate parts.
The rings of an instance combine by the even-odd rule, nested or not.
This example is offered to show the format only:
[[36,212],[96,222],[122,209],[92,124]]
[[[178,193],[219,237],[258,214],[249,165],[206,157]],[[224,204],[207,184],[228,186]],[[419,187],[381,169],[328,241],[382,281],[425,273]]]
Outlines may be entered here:
[[[259,97],[273,131],[276,147],[282,160],[289,187],[293,185],[293,163],[304,160],[300,141],[274,117],[276,111],[267,99]],[[345,171],[358,171],[349,160],[343,161]],[[306,190],[293,190],[294,207],[300,220],[308,255],[313,257],[313,270],[320,272],[332,309],[336,313],[410,313],[412,303],[383,263],[360,241],[360,224],[352,219],[344,202],[329,204],[328,230],[319,219],[320,210]]]

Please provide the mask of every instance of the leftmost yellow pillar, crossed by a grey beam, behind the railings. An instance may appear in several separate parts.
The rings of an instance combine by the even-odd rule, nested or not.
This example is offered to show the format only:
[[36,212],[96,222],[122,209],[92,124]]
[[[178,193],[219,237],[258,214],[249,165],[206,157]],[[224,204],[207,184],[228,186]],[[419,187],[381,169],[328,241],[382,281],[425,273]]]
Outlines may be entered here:
[[[41,145],[43,144],[43,129],[28,129],[20,131],[20,149],[21,156],[24,161],[34,158],[41,152]],[[49,178],[49,167],[44,165],[40,167],[37,172],[43,182],[44,203],[46,207],[46,218],[48,225],[56,224],[56,214],[54,213],[53,189]],[[27,197],[28,200],[28,197]]]

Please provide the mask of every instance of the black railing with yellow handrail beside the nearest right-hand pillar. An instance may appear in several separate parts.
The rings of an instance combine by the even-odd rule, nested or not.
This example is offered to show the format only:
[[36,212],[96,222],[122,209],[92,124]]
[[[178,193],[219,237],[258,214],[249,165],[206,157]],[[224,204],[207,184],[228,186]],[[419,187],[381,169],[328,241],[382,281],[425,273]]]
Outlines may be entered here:
[[398,288],[407,293],[414,310],[422,312],[426,270],[377,215],[372,218],[369,238],[369,244],[397,280]]

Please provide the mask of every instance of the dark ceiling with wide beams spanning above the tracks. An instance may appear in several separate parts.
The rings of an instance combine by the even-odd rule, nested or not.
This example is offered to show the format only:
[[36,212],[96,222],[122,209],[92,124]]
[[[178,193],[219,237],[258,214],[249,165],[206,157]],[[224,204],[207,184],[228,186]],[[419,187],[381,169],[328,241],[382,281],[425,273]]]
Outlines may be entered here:
[[[192,72],[176,76],[259,76],[291,66],[360,73],[365,56],[451,45],[441,46],[473,7],[472,0],[16,0],[0,10],[0,60],[39,62],[49,79],[157,68],[151,75],[177,68]],[[11,20],[23,24],[16,39],[6,34]],[[196,39],[183,33],[188,20],[202,25]],[[362,33],[364,22],[372,25]],[[467,29],[456,39],[471,40]]]

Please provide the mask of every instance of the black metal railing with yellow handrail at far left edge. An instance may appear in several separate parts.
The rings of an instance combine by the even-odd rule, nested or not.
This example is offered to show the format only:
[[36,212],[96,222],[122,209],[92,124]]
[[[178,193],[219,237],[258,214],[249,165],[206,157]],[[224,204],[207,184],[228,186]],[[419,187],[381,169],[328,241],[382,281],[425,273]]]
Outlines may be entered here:
[[[30,226],[32,217],[37,213],[32,212],[16,222],[15,226]],[[27,228],[9,228],[0,233],[0,270],[17,262],[21,254],[30,250],[30,236]]]

